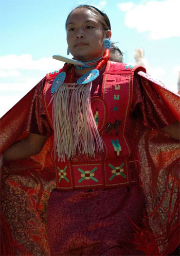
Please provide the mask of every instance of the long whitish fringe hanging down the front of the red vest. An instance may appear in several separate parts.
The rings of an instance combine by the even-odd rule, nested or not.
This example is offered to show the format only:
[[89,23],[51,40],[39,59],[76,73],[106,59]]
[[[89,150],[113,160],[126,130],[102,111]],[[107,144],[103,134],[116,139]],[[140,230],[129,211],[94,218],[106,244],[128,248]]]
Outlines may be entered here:
[[94,156],[103,143],[91,109],[92,83],[64,83],[53,97],[54,152],[58,161],[76,153]]

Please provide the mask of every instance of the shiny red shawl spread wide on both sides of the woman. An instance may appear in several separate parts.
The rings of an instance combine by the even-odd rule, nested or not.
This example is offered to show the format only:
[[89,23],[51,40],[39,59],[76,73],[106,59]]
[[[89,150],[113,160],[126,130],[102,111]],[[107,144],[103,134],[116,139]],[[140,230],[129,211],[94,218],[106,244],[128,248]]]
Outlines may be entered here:
[[[179,97],[161,87],[157,81],[139,72],[139,83],[143,90],[142,111],[158,108],[156,98],[164,101],[172,120],[179,120]],[[39,133],[47,130],[46,120],[40,122],[39,113],[31,115],[44,79],[1,120],[1,150],[28,135],[28,125],[36,123]],[[41,88],[41,89],[40,89]],[[154,97],[155,95],[155,97]],[[139,97],[138,93],[134,97]],[[35,106],[40,109],[41,106]],[[147,111],[147,115],[148,115]],[[157,110],[158,112],[158,110]],[[152,122],[155,123],[156,118]],[[159,114],[160,115],[160,114]],[[44,115],[42,115],[41,118]],[[165,120],[161,116],[161,120]],[[163,123],[162,121],[162,123]],[[137,249],[146,255],[169,255],[179,243],[179,143],[160,129],[148,129],[148,121],[139,121],[133,135],[136,135],[139,159],[139,181],[146,197],[147,212],[144,227],[134,226]],[[166,123],[166,122],[165,122]],[[142,128],[146,126],[146,129]],[[31,131],[33,128],[31,128]],[[34,132],[35,133],[35,132]],[[41,153],[19,161],[2,163],[1,172],[1,255],[49,255],[46,234],[46,208],[51,190],[55,187],[55,174],[50,158],[51,136]],[[132,224],[133,225],[133,224]]]

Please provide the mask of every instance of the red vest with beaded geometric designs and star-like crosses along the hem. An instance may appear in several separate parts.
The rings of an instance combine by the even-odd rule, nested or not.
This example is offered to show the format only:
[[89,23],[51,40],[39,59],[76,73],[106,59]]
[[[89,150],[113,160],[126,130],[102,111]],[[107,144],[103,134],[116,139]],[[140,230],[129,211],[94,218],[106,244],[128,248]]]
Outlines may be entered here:
[[[95,157],[81,155],[70,160],[66,158],[65,161],[58,161],[58,158],[54,159],[52,149],[57,190],[111,189],[137,182],[136,165],[125,132],[132,101],[133,75],[137,69],[144,71],[139,66],[107,62],[101,96],[91,98],[92,111],[104,151],[95,152]],[[44,109],[52,129],[50,89],[59,72],[47,74],[44,87]],[[68,72],[67,77],[65,82],[74,82],[72,70]]]

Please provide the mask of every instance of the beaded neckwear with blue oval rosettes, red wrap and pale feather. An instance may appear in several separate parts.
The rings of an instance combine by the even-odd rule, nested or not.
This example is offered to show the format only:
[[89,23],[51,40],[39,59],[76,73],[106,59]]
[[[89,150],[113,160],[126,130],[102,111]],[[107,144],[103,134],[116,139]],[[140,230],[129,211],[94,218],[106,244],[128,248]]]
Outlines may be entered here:
[[78,84],[86,84],[86,83],[89,83],[89,82],[92,82],[93,80],[95,80],[99,76],[99,71],[100,71],[101,67],[104,64],[106,64],[107,61],[109,61],[109,59],[110,59],[110,49],[106,49],[104,51],[103,57],[100,58],[100,59],[93,60],[93,63],[92,63],[92,61],[87,61],[87,62],[76,61],[76,60],[68,59],[68,58],[65,58],[65,57],[62,57],[62,56],[58,56],[58,55],[53,56],[53,58],[61,60],[61,61],[65,60],[67,63],[64,64],[64,66],[61,70],[61,73],[56,76],[55,80],[52,83],[52,87],[51,87],[51,93],[52,94],[55,93],[59,89],[59,87],[61,86],[61,84],[65,80],[66,72],[73,65],[79,66],[80,69],[81,69],[81,66],[83,66],[82,69],[86,69],[87,67],[94,67],[95,66],[95,69],[85,73],[83,76],[81,76],[78,79],[78,81],[77,81]]

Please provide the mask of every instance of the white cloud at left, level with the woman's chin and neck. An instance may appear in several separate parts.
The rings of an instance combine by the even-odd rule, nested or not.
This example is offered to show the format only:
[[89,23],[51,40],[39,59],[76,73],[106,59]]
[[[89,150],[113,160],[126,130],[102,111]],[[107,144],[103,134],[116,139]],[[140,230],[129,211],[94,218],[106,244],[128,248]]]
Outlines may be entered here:
[[30,54],[23,54],[20,56],[6,55],[6,56],[0,57],[0,70],[3,70],[3,71],[22,69],[22,70],[41,70],[41,71],[49,72],[53,70],[59,70],[63,66],[63,64],[64,62],[54,60],[52,59],[52,57],[33,60]]

